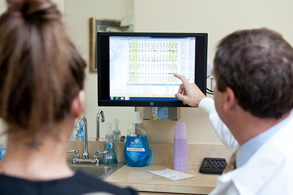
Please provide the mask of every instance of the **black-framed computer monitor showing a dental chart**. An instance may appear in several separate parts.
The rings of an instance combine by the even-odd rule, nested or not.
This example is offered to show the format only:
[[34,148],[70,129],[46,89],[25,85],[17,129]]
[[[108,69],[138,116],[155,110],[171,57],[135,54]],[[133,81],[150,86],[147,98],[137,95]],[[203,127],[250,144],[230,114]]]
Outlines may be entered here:
[[98,105],[187,107],[184,75],[206,94],[207,33],[97,33]]

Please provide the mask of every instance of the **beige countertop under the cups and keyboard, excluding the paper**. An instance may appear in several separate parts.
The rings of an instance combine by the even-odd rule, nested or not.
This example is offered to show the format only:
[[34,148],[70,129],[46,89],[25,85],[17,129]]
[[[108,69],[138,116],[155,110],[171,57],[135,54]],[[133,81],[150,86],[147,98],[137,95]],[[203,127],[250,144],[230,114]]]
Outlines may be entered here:
[[143,192],[164,192],[181,194],[209,194],[217,183],[216,175],[203,175],[199,173],[198,165],[188,165],[188,174],[195,177],[173,181],[148,172],[161,169],[173,169],[173,164],[149,164],[147,167],[128,167],[124,165],[106,182],[120,187],[132,187]]

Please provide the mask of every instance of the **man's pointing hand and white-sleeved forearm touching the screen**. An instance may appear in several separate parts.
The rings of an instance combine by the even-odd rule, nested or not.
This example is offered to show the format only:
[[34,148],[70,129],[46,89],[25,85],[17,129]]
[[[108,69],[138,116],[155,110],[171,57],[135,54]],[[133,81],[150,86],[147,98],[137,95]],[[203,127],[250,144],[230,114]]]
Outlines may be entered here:
[[195,83],[190,83],[184,76],[174,74],[175,77],[182,80],[178,93],[175,97],[182,100],[184,104],[199,107],[209,115],[209,123],[216,132],[219,139],[231,151],[235,152],[239,147],[237,140],[233,137],[228,127],[220,119],[216,109],[214,100],[207,98]]

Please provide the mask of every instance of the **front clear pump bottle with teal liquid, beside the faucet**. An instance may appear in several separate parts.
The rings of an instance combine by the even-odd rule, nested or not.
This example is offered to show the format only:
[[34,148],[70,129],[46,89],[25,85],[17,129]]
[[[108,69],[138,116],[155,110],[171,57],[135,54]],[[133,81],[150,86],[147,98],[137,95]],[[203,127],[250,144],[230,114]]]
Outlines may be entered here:
[[105,123],[107,125],[108,131],[105,135],[105,149],[107,149],[109,142],[113,143],[113,147],[110,152],[105,153],[103,155],[102,163],[103,164],[117,164],[117,156],[116,156],[116,149],[114,144],[114,134],[112,133],[112,123],[107,122]]

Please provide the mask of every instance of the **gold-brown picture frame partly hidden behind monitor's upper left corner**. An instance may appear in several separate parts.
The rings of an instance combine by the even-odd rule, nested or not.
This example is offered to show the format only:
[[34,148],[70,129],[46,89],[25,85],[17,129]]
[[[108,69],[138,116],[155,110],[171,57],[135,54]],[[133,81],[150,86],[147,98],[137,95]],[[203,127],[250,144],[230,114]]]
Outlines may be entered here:
[[90,19],[90,52],[89,70],[97,72],[97,32],[123,32],[125,28],[120,27],[121,20]]

